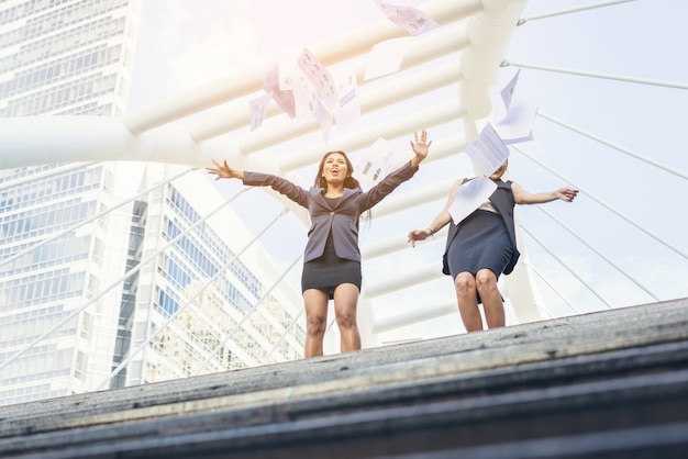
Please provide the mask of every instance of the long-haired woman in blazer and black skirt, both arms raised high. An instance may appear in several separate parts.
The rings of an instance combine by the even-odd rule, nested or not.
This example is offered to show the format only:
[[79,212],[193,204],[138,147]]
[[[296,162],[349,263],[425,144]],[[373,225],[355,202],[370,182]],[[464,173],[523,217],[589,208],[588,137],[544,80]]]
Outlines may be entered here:
[[358,219],[399,184],[418,171],[432,142],[426,132],[414,134],[411,148],[415,156],[390,172],[368,191],[352,177],[354,168],[344,152],[326,153],[320,161],[315,183],[309,190],[277,176],[244,172],[230,168],[226,160],[208,168],[222,178],[236,178],[248,186],[267,186],[309,210],[311,227],[303,255],[301,290],[306,307],[304,357],[321,356],[328,318],[328,302],[334,300],[334,313],[341,333],[341,350],[360,349],[356,305],[360,292],[360,249]]

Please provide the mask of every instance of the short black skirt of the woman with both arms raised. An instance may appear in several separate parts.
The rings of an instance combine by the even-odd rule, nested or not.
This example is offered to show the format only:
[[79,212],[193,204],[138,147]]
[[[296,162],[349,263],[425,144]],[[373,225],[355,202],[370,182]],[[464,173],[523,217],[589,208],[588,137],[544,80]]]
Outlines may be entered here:
[[303,264],[301,273],[301,292],[319,289],[334,298],[334,289],[342,283],[353,283],[360,291],[360,261],[346,260],[336,256],[332,234],[328,237],[323,254]]

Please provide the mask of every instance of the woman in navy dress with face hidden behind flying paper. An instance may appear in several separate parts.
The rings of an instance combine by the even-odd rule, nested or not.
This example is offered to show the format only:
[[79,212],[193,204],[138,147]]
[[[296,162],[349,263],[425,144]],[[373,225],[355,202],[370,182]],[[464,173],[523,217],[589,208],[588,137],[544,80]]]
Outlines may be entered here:
[[452,276],[456,289],[458,311],[467,332],[482,329],[478,305],[482,303],[488,328],[504,326],[504,306],[497,289],[501,273],[509,275],[519,259],[513,223],[515,204],[541,204],[545,202],[572,202],[578,190],[563,187],[544,193],[529,193],[512,181],[502,181],[507,171],[504,161],[491,176],[497,189],[488,201],[468,216],[454,224],[450,209],[454,197],[467,179],[457,180],[450,191],[444,209],[425,229],[409,233],[409,243],[424,240],[450,224],[442,272]]

